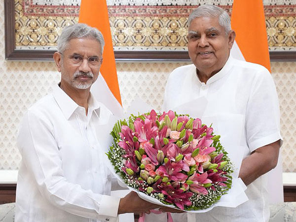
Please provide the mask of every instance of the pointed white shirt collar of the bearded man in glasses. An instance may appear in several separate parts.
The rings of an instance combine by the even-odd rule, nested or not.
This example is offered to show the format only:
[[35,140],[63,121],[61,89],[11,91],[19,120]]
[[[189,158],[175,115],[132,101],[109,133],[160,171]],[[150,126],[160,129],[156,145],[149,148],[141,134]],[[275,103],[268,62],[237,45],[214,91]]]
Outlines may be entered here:
[[[57,101],[60,109],[64,113],[65,117],[69,119],[72,114],[79,108],[78,104],[74,102],[60,87],[56,85],[53,89],[53,97]],[[100,114],[100,104],[96,101],[93,95],[90,93],[90,98],[88,100],[89,111],[97,111],[97,115]],[[90,113],[90,112],[88,112]]]

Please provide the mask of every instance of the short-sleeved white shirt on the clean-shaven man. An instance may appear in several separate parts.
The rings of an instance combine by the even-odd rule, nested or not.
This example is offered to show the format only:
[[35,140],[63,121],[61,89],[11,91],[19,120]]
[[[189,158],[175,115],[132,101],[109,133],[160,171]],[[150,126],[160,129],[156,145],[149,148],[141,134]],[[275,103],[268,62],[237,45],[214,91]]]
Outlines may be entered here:
[[[179,67],[167,80],[163,107],[174,110],[202,97],[208,103],[200,118],[206,119],[207,124],[213,123],[230,158],[238,152],[246,157],[257,148],[282,139],[276,88],[264,67],[229,57],[222,70],[206,84],[199,80],[193,64]],[[232,138],[232,144],[227,144],[225,138]],[[236,208],[216,207],[196,214],[196,221],[267,222],[266,184],[267,177],[262,175],[247,186],[249,201]]]

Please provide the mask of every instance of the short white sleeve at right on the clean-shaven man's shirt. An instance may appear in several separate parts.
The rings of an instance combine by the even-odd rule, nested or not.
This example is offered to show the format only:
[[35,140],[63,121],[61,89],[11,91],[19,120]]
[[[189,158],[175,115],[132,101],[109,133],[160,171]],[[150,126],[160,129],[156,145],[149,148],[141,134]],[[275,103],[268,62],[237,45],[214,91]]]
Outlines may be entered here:
[[260,67],[250,89],[246,135],[251,152],[278,140],[282,142],[276,87],[271,74],[264,67]]

